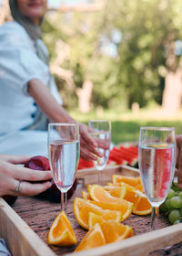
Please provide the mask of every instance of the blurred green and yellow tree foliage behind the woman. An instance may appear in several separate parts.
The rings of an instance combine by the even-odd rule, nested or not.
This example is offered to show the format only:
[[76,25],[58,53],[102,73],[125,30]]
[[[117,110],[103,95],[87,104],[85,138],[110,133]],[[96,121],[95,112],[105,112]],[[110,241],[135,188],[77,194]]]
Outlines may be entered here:
[[[99,12],[49,13],[45,18],[44,40],[56,58],[56,40],[70,48],[70,58],[61,66],[74,72],[76,88],[84,80],[94,82],[93,106],[131,107],[138,102],[161,104],[167,70],[177,69],[180,57],[167,64],[170,48],[182,39],[181,0],[107,0]],[[113,32],[120,33],[115,41]],[[116,47],[110,56],[103,45]],[[76,106],[76,89],[70,91],[57,80],[68,106]],[[66,92],[63,92],[66,91]],[[73,97],[73,98],[72,98]],[[72,102],[73,99],[73,102]]]

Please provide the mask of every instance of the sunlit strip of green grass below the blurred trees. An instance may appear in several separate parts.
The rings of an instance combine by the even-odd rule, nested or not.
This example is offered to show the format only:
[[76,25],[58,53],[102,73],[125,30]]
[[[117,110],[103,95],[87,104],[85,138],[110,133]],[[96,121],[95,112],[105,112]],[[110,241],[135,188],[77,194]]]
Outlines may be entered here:
[[182,112],[174,114],[164,112],[160,108],[139,110],[138,112],[97,109],[88,113],[80,113],[75,110],[70,114],[81,123],[87,123],[91,119],[110,120],[114,144],[138,141],[140,126],[172,126],[176,128],[177,134],[182,134]]

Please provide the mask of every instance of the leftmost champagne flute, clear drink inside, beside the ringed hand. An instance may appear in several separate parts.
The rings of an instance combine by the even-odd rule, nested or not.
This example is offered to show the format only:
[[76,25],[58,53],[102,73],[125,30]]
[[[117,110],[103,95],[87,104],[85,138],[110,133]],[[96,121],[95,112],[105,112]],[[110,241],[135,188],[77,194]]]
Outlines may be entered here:
[[67,191],[76,179],[80,153],[78,124],[49,123],[48,152],[52,176],[61,192],[61,210],[67,214]]

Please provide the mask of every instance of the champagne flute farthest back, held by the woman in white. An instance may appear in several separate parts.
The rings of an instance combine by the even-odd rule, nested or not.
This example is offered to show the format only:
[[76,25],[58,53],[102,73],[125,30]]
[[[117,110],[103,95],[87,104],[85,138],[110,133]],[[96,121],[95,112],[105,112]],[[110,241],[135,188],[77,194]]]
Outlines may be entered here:
[[111,123],[108,120],[90,120],[88,122],[90,127],[90,135],[95,138],[97,143],[97,150],[103,155],[97,156],[94,165],[98,173],[98,183],[102,184],[102,170],[105,168],[111,143]]

